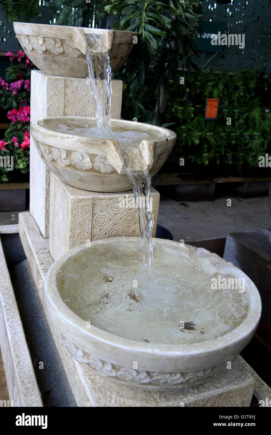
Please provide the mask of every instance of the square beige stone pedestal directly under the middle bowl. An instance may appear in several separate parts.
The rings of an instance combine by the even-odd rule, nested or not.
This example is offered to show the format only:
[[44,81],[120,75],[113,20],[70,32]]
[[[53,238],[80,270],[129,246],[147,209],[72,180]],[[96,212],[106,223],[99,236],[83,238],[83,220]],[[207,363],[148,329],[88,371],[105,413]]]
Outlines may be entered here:
[[[126,196],[127,195],[127,196]],[[138,208],[119,207],[121,198],[129,204],[133,191],[90,192],[71,187],[51,172],[50,254],[54,261],[71,248],[110,237],[139,236]],[[155,237],[160,194],[151,187]]]

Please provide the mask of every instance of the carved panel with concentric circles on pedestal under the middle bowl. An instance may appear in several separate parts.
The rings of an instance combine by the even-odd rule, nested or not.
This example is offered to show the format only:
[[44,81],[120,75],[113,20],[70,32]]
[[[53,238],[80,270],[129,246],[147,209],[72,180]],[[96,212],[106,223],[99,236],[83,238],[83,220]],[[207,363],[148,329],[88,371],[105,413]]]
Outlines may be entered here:
[[138,236],[137,208],[120,207],[118,199],[97,199],[93,204],[92,240]]

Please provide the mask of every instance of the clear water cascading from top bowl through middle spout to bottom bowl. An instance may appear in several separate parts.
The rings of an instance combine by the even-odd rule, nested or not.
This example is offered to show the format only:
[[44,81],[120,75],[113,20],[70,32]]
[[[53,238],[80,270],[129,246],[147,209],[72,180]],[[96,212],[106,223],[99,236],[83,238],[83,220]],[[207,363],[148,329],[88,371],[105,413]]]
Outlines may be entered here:
[[[153,227],[153,215],[150,204],[150,185],[151,178],[147,171],[144,159],[138,153],[138,146],[143,140],[144,136],[134,137],[134,131],[131,131],[129,151],[125,148],[122,142],[122,135],[116,134],[111,131],[111,68],[109,63],[109,52],[106,45],[103,43],[101,35],[98,34],[86,34],[88,43],[87,50],[87,67],[90,77],[90,83],[92,86],[92,92],[94,100],[96,102],[96,122],[97,129],[95,134],[102,134],[104,136],[104,130],[107,130],[107,137],[116,139],[120,143],[122,148],[122,154],[124,157],[124,163],[126,166],[126,173],[129,182],[134,191],[134,197],[138,207],[138,220],[139,231],[141,237],[141,251],[143,255],[143,265],[147,270],[151,270],[153,260],[153,248],[151,231]],[[95,129],[95,130],[97,130]],[[102,131],[101,131],[102,130]],[[92,134],[94,131],[91,132]],[[133,139],[134,138],[134,139]],[[140,142],[138,139],[141,139]],[[127,132],[126,138],[127,139]],[[122,146],[121,146],[122,145]],[[133,149],[134,148],[134,149]],[[139,201],[140,199],[140,201]]]

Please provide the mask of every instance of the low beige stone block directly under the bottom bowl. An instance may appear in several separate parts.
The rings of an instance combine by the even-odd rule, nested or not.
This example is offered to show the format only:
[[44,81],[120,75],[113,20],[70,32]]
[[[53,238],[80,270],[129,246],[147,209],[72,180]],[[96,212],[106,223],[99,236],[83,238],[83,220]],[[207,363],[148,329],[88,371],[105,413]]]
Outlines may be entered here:
[[89,371],[85,371],[84,376],[88,395],[95,406],[106,407],[248,407],[255,385],[253,377],[237,359],[231,370],[224,368],[207,382],[182,390],[158,392],[137,387],[120,388],[117,383]]

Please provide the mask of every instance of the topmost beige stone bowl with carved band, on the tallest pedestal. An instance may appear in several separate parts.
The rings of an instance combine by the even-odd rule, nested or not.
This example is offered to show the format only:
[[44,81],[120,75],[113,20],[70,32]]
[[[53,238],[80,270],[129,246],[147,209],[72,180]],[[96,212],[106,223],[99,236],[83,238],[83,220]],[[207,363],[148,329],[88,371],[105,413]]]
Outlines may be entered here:
[[134,47],[136,32],[13,23],[17,38],[31,62],[43,73],[54,76],[88,76],[85,33],[102,35],[110,55],[111,70],[116,70]]

